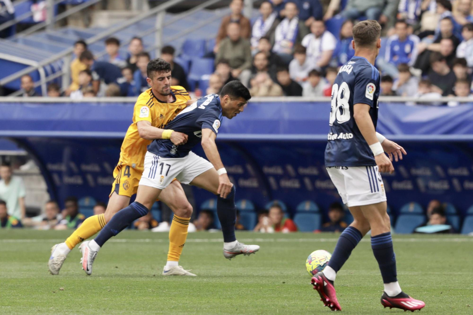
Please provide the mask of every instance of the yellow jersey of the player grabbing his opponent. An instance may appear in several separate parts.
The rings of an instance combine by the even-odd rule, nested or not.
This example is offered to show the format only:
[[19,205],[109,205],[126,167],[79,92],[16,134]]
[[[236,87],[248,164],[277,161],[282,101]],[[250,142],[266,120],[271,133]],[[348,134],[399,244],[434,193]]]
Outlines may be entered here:
[[163,129],[186,107],[186,102],[191,99],[184,87],[172,86],[171,93],[175,96],[175,101],[172,103],[159,101],[151,88],[138,96],[133,110],[133,122],[128,127],[125,139],[123,139],[120,152],[121,163],[131,166],[140,173],[143,172],[143,162],[151,140],[140,137],[136,123],[145,120],[151,122],[151,126]]

